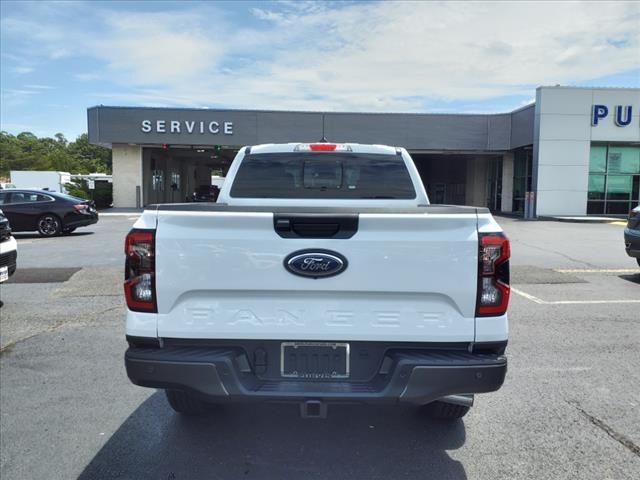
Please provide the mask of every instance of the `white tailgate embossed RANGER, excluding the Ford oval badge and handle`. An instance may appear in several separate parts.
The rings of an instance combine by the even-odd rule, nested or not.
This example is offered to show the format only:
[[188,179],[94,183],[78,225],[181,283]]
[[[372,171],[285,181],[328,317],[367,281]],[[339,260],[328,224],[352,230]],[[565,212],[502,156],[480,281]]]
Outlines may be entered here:
[[[287,271],[303,249],[342,254],[329,278]],[[348,239],[282,238],[265,211],[160,211],[158,336],[474,340],[475,213],[361,213]],[[473,293],[472,293],[473,292]]]

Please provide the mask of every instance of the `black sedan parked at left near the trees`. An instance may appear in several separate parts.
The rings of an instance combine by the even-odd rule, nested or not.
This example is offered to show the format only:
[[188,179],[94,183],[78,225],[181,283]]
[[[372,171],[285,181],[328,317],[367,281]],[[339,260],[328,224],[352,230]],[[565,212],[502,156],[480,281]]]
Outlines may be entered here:
[[98,221],[92,201],[46,190],[0,191],[0,207],[14,232],[37,230],[44,237],[71,233]]

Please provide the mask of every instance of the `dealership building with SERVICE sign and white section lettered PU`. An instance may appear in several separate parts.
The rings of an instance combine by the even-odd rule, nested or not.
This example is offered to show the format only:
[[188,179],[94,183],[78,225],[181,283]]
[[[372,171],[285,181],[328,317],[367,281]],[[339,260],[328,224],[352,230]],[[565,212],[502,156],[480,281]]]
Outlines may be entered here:
[[405,147],[432,203],[532,215],[624,214],[640,203],[640,89],[539,87],[498,114],[97,106],[89,140],[113,150],[115,207],[183,202],[244,145]]

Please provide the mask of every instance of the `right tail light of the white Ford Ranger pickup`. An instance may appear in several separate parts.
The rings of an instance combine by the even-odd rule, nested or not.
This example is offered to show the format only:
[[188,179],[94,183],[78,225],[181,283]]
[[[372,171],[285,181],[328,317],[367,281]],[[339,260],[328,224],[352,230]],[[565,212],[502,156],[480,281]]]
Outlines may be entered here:
[[509,305],[509,240],[503,233],[478,234],[476,316],[504,315]]

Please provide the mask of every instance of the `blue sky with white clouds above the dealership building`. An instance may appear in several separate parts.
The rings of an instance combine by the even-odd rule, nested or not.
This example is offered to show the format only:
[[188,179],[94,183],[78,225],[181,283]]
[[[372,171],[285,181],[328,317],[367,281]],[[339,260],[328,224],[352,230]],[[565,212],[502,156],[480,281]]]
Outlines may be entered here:
[[640,2],[0,2],[0,129],[94,105],[507,112],[640,87]]

